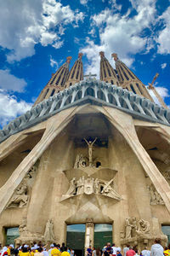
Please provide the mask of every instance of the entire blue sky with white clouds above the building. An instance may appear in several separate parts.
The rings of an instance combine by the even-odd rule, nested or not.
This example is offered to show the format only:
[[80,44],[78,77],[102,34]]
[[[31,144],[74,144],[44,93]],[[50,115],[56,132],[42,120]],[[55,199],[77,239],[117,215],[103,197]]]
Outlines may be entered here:
[[0,125],[31,108],[68,55],[99,77],[111,53],[170,105],[169,0],[0,0]]

